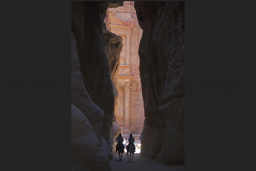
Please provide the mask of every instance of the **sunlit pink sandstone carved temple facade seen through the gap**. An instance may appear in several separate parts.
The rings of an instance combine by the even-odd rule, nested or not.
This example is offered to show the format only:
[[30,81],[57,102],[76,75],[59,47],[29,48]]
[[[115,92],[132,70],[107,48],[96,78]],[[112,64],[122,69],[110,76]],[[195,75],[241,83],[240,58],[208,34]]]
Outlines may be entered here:
[[123,134],[141,134],[145,117],[138,49],[143,31],[138,24],[134,1],[124,1],[124,6],[109,8],[104,22],[108,31],[122,36],[124,44],[118,73],[116,120]]

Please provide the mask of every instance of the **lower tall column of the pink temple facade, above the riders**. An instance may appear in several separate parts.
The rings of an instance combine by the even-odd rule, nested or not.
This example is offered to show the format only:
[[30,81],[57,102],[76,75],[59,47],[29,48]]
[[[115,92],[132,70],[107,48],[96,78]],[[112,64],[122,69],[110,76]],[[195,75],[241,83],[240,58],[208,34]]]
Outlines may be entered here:
[[124,132],[130,132],[130,86],[124,86]]

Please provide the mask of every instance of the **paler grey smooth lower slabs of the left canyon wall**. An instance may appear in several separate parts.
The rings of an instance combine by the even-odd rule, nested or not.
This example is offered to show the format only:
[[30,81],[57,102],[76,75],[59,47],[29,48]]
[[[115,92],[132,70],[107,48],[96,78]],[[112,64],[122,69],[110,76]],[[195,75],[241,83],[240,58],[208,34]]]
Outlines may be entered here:
[[104,112],[90,99],[79,63],[71,32],[71,170],[111,170],[109,158],[113,154],[101,136]]

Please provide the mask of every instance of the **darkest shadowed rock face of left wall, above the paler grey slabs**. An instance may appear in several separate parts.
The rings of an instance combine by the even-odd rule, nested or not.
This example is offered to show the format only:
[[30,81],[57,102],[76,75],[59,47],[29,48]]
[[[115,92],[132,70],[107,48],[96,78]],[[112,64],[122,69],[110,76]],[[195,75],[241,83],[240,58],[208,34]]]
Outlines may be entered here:
[[[103,33],[103,20],[107,6],[107,1],[71,2],[71,29],[77,41],[77,53],[84,86],[91,100],[104,112],[101,135],[112,148],[110,128],[113,122],[114,94],[110,66],[104,49]],[[90,121],[90,118],[88,119]],[[102,118],[97,118],[96,121],[101,122],[98,120]],[[99,137],[98,139],[100,140]]]

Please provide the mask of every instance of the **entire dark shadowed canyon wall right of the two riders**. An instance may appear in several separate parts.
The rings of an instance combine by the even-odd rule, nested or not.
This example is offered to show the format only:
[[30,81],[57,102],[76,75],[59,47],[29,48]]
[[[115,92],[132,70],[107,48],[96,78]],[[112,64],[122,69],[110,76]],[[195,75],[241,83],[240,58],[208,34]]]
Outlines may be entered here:
[[185,163],[185,2],[135,2],[145,121],[141,156]]

